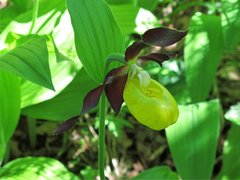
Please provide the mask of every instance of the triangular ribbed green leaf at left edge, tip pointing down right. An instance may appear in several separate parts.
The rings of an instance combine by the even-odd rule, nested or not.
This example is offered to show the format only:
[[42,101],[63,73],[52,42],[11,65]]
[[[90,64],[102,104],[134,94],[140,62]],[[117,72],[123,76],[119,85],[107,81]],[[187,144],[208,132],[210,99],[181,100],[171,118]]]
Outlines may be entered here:
[[54,90],[44,37],[35,36],[0,56],[0,69]]

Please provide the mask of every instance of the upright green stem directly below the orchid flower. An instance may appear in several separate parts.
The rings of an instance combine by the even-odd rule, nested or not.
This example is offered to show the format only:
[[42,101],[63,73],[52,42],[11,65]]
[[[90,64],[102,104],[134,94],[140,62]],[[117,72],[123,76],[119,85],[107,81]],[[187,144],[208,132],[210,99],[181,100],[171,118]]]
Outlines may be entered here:
[[104,169],[105,169],[105,94],[103,93],[100,99],[100,107],[99,107],[99,141],[98,141],[98,168],[100,179],[104,180]]

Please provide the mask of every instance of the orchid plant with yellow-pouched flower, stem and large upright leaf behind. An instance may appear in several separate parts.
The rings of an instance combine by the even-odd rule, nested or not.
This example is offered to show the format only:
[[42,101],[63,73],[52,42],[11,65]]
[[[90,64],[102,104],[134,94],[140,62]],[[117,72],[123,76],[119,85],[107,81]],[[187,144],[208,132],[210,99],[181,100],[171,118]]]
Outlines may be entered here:
[[[176,122],[178,109],[173,97],[164,87],[151,80],[147,72],[143,71],[136,65],[137,62],[140,63],[141,61],[146,62],[149,60],[154,60],[161,64],[163,61],[168,59],[168,56],[152,53],[146,56],[138,57],[140,60],[136,59],[136,56],[143,48],[149,45],[164,47],[174,44],[182,39],[186,33],[167,28],[151,29],[142,35],[141,41],[133,43],[126,49],[125,56],[119,54],[111,55],[111,53],[121,53],[121,44],[123,44],[123,39],[120,35],[121,33],[119,32],[119,28],[111,15],[110,9],[106,6],[106,4],[102,1],[68,1],[68,7],[74,27],[78,56],[89,75],[92,76],[96,82],[99,82],[103,79],[102,74],[105,75],[104,72],[108,71],[111,62],[120,61],[125,64],[110,70],[106,74],[104,81],[102,80],[103,83],[86,95],[81,111],[81,114],[86,113],[91,108],[94,108],[100,100],[98,159],[100,177],[101,179],[105,179],[105,93],[116,114],[120,111],[124,97],[125,102],[129,106],[128,108],[131,108],[130,112],[132,112],[141,123],[150,128],[160,130]],[[76,9],[77,7],[82,7],[83,9],[78,11],[78,9]],[[102,20],[94,18],[92,14],[94,10],[101,12],[100,18],[102,18]],[[103,23],[103,19],[106,17],[108,17],[108,21],[107,23]],[[103,25],[104,27],[99,29],[99,26]],[[92,30],[92,32],[89,29]],[[94,36],[92,34],[94,34]],[[112,36],[108,37],[107,34]],[[116,49],[113,49],[114,47]],[[101,61],[96,62],[97,58]],[[133,83],[132,79],[135,79],[136,82]],[[132,87],[131,84],[133,84]],[[103,92],[104,90],[105,93]],[[144,99],[137,94],[135,95],[135,92],[137,91],[139,94],[142,94]],[[159,92],[162,92],[162,94]],[[150,93],[150,95],[148,95],[148,93]],[[141,112],[142,109],[135,111],[138,107],[134,106],[135,102],[133,101],[136,101],[136,99],[133,101],[131,100],[134,96],[136,96],[136,99],[143,99],[143,103],[149,104],[149,109],[145,112],[148,116],[143,116]],[[151,100],[152,97],[154,97],[154,100]],[[155,97],[158,97],[158,99]],[[166,102],[163,103],[162,101]],[[141,107],[142,102],[138,102],[137,104]],[[155,111],[152,111],[154,108]],[[169,112],[164,112],[164,110],[168,110]],[[158,113],[158,111],[162,112]],[[151,116],[151,114],[155,114],[156,116],[153,116],[154,118],[152,118],[149,123],[148,117],[149,115]],[[143,116],[143,118],[141,116]],[[77,120],[75,119],[74,121],[76,122]],[[70,119],[65,122],[59,127],[56,133],[58,134],[68,129],[74,121]]]

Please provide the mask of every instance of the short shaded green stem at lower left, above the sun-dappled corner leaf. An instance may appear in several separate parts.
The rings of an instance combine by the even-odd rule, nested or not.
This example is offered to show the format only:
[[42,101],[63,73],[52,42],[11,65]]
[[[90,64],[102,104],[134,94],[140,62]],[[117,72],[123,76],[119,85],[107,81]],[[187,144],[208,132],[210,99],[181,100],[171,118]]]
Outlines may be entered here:
[[29,135],[29,142],[32,149],[35,149],[36,147],[36,120],[32,118],[27,118],[28,122],[28,135]]

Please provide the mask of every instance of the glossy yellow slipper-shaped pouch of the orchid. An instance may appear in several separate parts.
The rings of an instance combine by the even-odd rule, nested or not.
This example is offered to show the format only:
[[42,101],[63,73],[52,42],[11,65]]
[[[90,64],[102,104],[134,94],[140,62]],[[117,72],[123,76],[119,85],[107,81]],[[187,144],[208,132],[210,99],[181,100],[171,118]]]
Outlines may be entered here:
[[141,123],[161,130],[177,121],[177,103],[168,90],[154,80],[146,87],[138,78],[128,78],[123,98],[130,113]]

